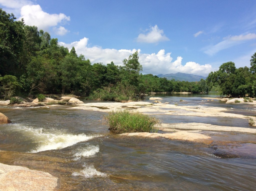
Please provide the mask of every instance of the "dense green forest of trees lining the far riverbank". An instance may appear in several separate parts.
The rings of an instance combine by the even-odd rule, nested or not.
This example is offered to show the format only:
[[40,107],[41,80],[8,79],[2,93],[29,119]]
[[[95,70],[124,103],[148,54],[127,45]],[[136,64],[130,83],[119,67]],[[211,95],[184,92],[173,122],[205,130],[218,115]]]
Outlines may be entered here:
[[207,80],[185,82],[142,74],[138,52],[123,60],[90,63],[75,48],[59,46],[57,38],[36,26],[16,21],[0,8],[0,99],[15,95],[74,94],[90,100],[138,100],[148,92],[219,91],[229,97],[254,97],[256,94],[256,53],[251,67],[236,68],[224,63]]

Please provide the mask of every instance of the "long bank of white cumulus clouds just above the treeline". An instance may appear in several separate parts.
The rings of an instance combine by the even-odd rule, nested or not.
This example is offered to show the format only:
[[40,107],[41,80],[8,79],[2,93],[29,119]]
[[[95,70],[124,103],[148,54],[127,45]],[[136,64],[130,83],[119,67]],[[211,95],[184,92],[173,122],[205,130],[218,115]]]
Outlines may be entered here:
[[[71,42],[66,44],[64,42],[59,42],[60,46],[68,47],[69,50],[72,47],[75,47],[76,53],[83,54],[85,58],[90,59],[91,63],[103,64],[111,63],[113,61],[116,65],[123,65],[123,60],[128,58],[129,55],[134,53],[136,49],[127,50],[127,49],[103,49],[99,46],[88,46],[88,38],[82,38],[79,41]],[[177,57],[173,61],[171,57],[171,52],[165,53],[165,50],[160,50],[157,53],[145,54],[142,53],[140,49],[139,52],[139,62],[143,67],[144,74],[167,74],[167,73],[176,73],[184,72],[189,74],[204,75],[207,76],[209,72],[212,71],[212,66],[210,64],[200,65],[195,62],[187,62],[185,65],[182,65],[182,57]]]

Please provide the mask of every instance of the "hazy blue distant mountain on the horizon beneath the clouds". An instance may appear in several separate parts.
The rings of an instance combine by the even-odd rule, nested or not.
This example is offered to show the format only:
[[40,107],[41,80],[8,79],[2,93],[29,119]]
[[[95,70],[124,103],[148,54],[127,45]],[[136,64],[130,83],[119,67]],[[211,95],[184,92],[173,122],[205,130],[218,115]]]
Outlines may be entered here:
[[201,79],[206,79],[206,77],[201,75],[193,75],[193,74],[186,74],[186,73],[175,73],[175,74],[159,74],[158,77],[166,77],[167,80],[179,80],[179,81],[188,81],[188,82],[196,82],[200,81]]

